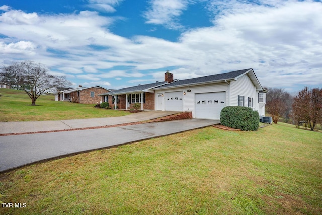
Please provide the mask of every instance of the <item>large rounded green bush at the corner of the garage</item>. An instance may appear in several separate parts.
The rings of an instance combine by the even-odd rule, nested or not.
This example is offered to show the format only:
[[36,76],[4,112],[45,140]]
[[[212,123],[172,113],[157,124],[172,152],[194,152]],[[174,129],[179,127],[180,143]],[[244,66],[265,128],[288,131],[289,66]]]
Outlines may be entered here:
[[220,113],[222,125],[240,130],[258,130],[259,114],[250,107],[228,106]]

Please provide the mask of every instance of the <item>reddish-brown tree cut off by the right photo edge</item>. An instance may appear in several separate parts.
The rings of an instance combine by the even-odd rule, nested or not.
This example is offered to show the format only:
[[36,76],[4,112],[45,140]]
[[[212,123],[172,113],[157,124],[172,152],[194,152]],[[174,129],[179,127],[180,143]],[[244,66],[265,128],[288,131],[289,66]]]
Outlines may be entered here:
[[292,109],[295,121],[308,122],[313,131],[316,124],[322,123],[322,89],[305,87],[294,98]]

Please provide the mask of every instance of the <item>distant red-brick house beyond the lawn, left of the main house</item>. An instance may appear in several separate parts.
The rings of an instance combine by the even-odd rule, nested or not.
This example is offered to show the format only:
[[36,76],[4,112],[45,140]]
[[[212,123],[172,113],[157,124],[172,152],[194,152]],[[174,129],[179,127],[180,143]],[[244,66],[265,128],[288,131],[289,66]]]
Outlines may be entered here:
[[55,100],[70,101],[81,104],[97,104],[102,102],[100,94],[110,91],[111,90],[99,85],[92,87],[83,87],[79,85],[76,88],[57,88]]

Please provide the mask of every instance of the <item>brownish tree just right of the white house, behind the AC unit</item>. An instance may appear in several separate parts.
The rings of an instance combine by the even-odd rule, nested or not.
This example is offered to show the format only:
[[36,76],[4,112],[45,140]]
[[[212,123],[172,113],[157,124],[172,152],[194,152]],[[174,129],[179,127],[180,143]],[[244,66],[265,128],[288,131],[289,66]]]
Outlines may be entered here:
[[[265,88],[269,92],[266,97],[266,112],[271,114],[272,120],[277,124],[278,120],[290,112],[292,96],[282,88]],[[287,120],[287,119],[286,119]]]

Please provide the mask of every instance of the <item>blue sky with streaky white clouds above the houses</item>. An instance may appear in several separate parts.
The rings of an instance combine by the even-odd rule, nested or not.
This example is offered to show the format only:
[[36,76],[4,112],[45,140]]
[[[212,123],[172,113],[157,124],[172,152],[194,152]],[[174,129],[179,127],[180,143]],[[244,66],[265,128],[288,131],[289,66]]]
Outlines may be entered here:
[[322,3],[1,0],[0,65],[33,60],[110,89],[253,68],[262,86],[322,87]]

